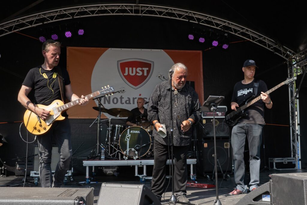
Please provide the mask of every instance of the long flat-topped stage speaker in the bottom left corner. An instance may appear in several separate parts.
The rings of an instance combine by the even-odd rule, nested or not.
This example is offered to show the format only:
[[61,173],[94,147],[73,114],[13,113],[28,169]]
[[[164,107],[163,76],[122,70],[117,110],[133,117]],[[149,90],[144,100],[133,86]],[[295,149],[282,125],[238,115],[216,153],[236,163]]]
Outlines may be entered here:
[[93,205],[94,188],[0,187],[0,205]]

